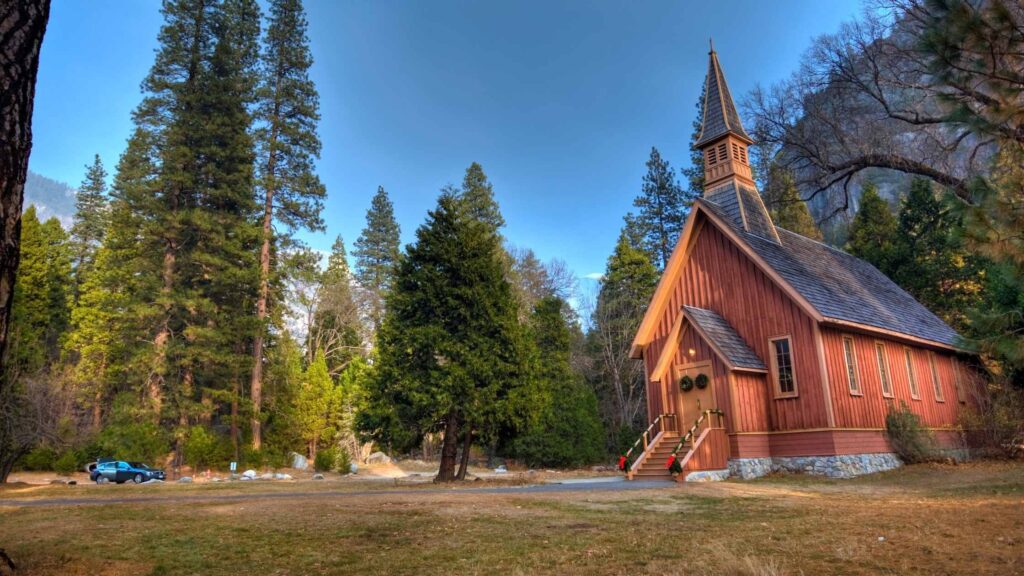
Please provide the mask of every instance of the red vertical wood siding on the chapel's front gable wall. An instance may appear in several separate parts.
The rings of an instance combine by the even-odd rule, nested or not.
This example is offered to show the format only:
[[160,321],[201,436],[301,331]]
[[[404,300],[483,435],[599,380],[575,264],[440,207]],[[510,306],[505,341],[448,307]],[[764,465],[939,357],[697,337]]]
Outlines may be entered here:
[[[799,395],[796,398],[775,400],[771,379],[765,379],[768,429],[790,430],[828,425],[814,320],[762,273],[725,234],[707,220],[696,234],[689,259],[673,287],[663,317],[658,319],[654,337],[644,349],[648,374],[653,371],[673,323],[684,304],[710,308],[722,315],[766,365],[769,364],[768,339],[791,336]],[[676,345],[675,342],[670,344]],[[718,374],[716,368],[716,376]],[[718,394],[722,392],[728,395],[728,380],[719,380],[716,377],[716,399],[730,418],[729,430],[733,431],[734,425],[763,426],[765,421],[760,416],[752,416],[754,419],[750,422],[732,420],[728,414],[731,411],[731,399]],[[751,388],[753,383],[746,381],[744,385]],[[664,411],[660,392],[656,386],[649,386],[648,393],[649,413],[654,416]]]

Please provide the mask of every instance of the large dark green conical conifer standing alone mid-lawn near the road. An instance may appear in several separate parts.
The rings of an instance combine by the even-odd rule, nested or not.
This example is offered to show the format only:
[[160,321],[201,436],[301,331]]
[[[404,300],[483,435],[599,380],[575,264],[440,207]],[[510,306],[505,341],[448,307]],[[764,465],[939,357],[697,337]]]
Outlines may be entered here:
[[460,433],[486,441],[522,370],[516,304],[493,222],[444,194],[388,293],[360,428],[398,449],[444,433],[437,480],[455,479]]

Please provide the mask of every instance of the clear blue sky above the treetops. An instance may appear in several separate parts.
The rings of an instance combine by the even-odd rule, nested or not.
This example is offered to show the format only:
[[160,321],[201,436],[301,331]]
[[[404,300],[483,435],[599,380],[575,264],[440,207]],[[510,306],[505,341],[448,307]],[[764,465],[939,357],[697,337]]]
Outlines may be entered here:
[[[31,168],[77,186],[113,170],[161,25],[156,0],[55,0]],[[787,76],[859,0],[306,0],[321,94],[329,249],[351,243],[384,186],[403,243],[445,183],[479,162],[505,235],[581,277],[600,273],[650,147],[687,163],[708,38],[733,94]]]

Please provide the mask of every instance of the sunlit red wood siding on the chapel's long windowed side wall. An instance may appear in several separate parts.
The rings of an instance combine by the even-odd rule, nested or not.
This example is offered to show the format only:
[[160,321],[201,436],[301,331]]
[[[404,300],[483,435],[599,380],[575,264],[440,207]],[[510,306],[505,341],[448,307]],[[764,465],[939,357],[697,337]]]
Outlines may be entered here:
[[[843,351],[843,336],[852,337],[857,359],[856,373],[860,379],[862,396],[850,394],[849,379]],[[935,387],[932,383],[932,369],[929,365],[928,349],[909,345],[911,364],[918,381],[920,395],[911,398],[910,381],[906,370],[904,346],[901,342],[879,338],[865,334],[852,334],[833,328],[822,328],[821,337],[825,349],[825,369],[828,381],[831,382],[833,410],[836,415],[836,427],[839,428],[882,428],[885,427],[886,412],[890,406],[899,406],[900,401],[906,402],[922,422],[928,427],[942,428],[956,424],[959,411],[964,408],[954,386],[952,356],[936,352],[935,362],[942,386],[942,398],[935,398]],[[889,377],[893,386],[893,398],[882,396],[882,380],[879,375],[879,362],[876,355],[876,342],[885,344],[886,358],[889,361]],[[962,363],[961,371],[965,381],[965,390],[972,385],[968,382],[969,372]],[[968,396],[973,396],[968,394]]]

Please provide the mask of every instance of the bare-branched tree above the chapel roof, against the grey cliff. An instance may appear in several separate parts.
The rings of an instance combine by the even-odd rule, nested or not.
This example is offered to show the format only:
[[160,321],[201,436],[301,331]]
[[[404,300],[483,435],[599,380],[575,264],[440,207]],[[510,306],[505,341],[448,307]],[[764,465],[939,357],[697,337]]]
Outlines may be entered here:
[[[1024,142],[1024,118],[1010,113],[1024,104],[1024,7],[873,7],[819,38],[792,78],[754,90],[754,137],[780,152],[808,200],[827,193],[835,211],[849,206],[849,184],[870,168],[930,178],[971,203],[970,180],[987,169],[997,140]],[[990,37],[963,38],[956,17],[991,23]]]

